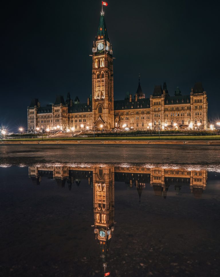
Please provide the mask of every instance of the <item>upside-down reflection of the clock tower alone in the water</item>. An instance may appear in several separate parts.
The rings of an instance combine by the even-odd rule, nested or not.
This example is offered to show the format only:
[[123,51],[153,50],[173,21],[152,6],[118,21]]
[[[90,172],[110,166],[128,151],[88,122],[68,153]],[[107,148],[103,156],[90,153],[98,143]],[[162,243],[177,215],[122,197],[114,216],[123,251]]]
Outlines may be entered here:
[[93,170],[94,233],[98,239],[104,272],[114,232],[114,167]]

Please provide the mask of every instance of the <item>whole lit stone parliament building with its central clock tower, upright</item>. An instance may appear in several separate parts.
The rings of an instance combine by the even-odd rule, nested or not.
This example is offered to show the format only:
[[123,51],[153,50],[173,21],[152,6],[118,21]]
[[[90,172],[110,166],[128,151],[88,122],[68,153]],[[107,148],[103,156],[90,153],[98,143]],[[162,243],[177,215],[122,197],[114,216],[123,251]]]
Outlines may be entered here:
[[92,94],[87,103],[74,101],[67,94],[42,107],[32,99],[28,107],[28,131],[82,131],[93,129],[168,130],[207,129],[208,102],[202,83],[196,82],[187,95],[177,87],[168,93],[166,82],[156,85],[149,98],[141,89],[140,78],[134,95],[126,93],[124,100],[114,100],[113,49],[107,34],[104,12],[92,48]]

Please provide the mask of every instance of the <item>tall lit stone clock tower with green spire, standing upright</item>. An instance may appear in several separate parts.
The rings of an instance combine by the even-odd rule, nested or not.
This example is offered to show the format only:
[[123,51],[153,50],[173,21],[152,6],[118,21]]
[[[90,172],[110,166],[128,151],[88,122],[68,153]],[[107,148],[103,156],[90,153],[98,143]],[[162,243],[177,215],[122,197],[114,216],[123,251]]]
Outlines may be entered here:
[[113,57],[101,12],[99,29],[93,42],[92,73],[93,124],[99,128],[114,127]]

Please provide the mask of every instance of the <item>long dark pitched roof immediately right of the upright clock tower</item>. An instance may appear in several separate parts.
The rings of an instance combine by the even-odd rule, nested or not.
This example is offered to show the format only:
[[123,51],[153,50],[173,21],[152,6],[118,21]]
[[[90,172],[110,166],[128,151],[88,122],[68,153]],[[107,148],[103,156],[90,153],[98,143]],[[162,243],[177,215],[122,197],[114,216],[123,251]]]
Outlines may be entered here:
[[146,108],[150,108],[149,98],[138,99],[138,101],[135,101],[135,99],[131,99],[131,102],[129,102],[128,99],[114,100],[114,110],[146,109]]

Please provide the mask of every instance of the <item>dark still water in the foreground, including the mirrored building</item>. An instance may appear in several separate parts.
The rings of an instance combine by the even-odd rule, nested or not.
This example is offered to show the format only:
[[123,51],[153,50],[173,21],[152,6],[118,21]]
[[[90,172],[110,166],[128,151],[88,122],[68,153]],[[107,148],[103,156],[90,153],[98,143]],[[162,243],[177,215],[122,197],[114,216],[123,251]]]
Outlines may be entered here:
[[0,168],[1,276],[220,275],[217,162],[17,162]]

